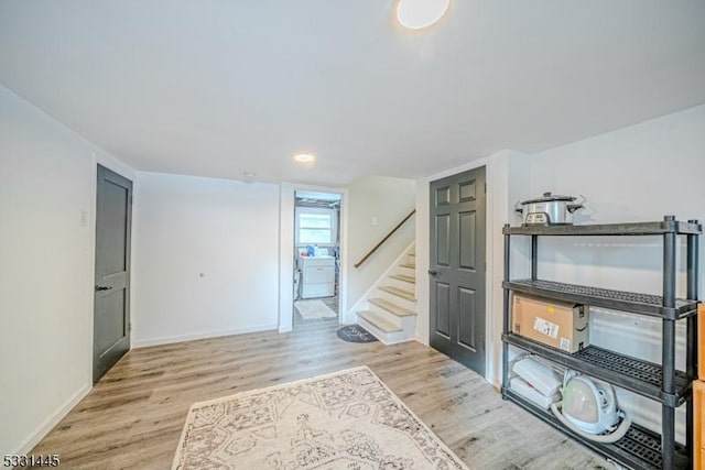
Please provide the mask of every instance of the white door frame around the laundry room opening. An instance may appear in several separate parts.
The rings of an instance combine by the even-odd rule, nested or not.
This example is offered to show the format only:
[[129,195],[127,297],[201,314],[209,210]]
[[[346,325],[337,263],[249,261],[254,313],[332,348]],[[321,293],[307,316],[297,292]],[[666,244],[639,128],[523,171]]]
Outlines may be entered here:
[[338,321],[346,323],[348,284],[348,190],[325,186],[282,183],[279,221],[279,332],[291,331],[294,320],[294,197],[297,190],[340,195],[340,269],[338,277]]

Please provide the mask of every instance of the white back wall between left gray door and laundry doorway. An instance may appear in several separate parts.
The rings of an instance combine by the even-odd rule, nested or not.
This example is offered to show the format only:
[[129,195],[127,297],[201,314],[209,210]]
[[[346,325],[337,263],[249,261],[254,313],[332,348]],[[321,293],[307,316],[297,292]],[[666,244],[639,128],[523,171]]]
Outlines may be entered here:
[[274,329],[279,186],[138,175],[134,346]]

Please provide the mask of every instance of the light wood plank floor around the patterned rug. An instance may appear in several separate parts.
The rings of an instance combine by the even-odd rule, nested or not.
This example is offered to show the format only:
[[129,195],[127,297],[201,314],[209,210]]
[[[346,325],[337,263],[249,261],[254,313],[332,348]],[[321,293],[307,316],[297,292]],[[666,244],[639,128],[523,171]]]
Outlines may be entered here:
[[132,350],[32,453],[58,453],[66,469],[169,469],[193,403],[368,365],[471,469],[606,464],[435,350],[345,342],[337,328],[319,320]]

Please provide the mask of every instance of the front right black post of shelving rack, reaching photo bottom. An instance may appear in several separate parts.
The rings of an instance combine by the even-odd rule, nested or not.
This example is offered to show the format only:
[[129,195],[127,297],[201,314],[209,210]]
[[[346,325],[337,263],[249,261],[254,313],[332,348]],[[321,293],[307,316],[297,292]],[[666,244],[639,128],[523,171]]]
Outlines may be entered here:
[[[665,225],[673,225],[675,216],[665,216]],[[675,307],[675,242],[676,233],[670,230],[663,234],[663,306],[665,308]],[[663,371],[663,393],[673,395],[675,393],[675,320],[663,318],[663,341],[662,341],[662,371]],[[672,469],[675,457],[675,408],[663,404],[661,407],[662,427],[661,452],[663,468]]]

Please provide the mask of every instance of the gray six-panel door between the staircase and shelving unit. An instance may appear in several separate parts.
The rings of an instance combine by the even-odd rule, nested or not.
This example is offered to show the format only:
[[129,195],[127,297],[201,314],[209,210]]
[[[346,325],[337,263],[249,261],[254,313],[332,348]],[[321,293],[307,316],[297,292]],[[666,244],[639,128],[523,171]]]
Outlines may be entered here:
[[485,374],[485,167],[431,183],[431,346]]

